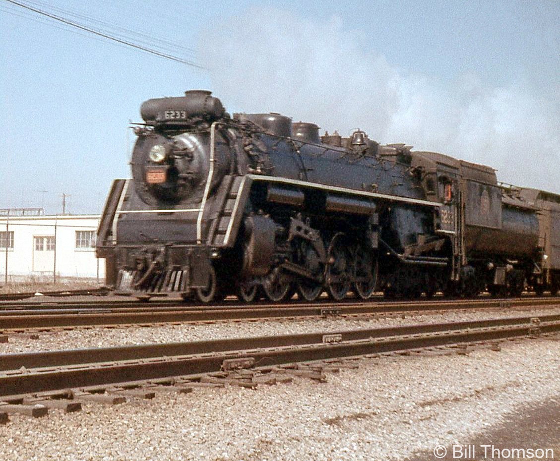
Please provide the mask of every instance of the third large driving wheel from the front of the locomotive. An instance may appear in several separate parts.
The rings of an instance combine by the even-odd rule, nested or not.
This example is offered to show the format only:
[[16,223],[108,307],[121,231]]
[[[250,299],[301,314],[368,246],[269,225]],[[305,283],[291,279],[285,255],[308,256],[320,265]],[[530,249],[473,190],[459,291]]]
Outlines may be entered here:
[[332,299],[339,301],[348,293],[352,279],[352,253],[344,242],[344,234],[333,237],[327,255],[327,292]]

